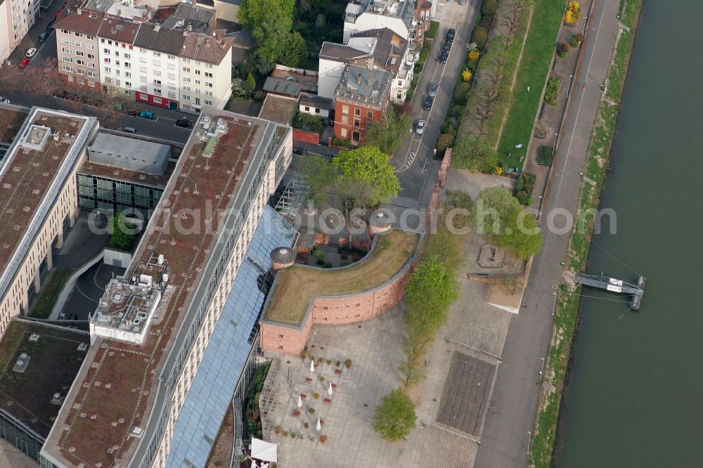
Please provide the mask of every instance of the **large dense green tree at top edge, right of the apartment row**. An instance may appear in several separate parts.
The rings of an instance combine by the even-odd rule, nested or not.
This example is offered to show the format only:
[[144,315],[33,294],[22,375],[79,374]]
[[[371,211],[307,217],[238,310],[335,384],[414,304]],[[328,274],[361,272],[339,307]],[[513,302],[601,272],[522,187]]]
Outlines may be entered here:
[[244,0],[239,22],[257,41],[257,68],[269,72],[289,41],[295,0]]

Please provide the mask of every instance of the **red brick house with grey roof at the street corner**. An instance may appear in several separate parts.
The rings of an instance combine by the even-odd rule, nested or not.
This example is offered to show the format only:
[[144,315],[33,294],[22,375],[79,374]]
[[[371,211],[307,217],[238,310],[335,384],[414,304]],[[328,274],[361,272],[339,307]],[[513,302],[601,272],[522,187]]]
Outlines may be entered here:
[[372,122],[378,122],[390,102],[393,74],[347,65],[335,91],[335,138],[363,142]]

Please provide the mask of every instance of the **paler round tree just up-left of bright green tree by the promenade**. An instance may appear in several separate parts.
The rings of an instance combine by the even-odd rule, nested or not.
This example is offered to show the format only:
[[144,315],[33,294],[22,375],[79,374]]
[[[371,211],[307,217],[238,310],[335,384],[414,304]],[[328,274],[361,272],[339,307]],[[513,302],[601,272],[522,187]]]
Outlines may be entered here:
[[515,209],[522,209],[510,190],[491,187],[482,190],[472,207],[471,217],[479,234],[489,237],[500,235],[510,226],[510,216]]

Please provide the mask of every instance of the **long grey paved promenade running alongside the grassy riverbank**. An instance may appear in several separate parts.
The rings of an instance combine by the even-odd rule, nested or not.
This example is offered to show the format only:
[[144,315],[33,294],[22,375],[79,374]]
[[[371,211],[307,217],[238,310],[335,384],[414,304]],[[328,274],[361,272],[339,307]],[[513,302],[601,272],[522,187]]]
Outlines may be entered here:
[[[513,316],[498,369],[475,467],[524,468],[529,464],[529,438],[537,413],[539,372],[552,332],[557,285],[562,281],[571,231],[548,229],[550,212],[566,210],[576,218],[583,167],[598,105],[600,84],[607,77],[618,29],[618,2],[596,0],[588,18],[582,58],[571,102],[562,126],[553,178],[543,202],[542,252],[534,259],[520,313]],[[563,216],[555,224],[560,227]]]

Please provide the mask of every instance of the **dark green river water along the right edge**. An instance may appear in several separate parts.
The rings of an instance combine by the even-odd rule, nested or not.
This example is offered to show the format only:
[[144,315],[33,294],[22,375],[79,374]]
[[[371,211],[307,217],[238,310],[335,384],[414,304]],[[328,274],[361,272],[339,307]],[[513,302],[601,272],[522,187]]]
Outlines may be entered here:
[[699,0],[644,2],[601,202],[617,235],[588,273],[647,285],[631,313],[583,290],[600,299],[581,301],[556,467],[703,467],[701,18]]

